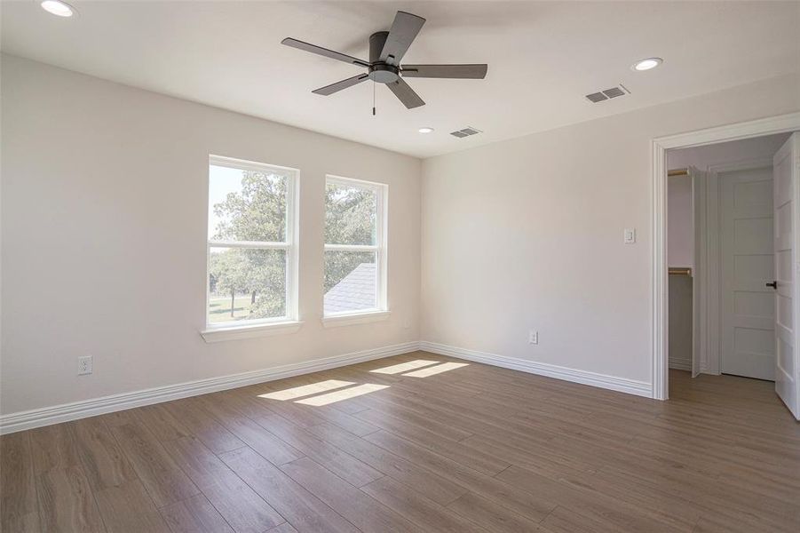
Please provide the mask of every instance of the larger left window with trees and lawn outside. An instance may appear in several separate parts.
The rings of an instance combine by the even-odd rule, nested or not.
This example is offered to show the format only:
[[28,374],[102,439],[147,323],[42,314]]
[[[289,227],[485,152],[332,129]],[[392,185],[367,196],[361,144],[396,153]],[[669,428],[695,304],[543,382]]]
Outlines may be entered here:
[[296,170],[210,156],[208,330],[297,321],[296,187]]

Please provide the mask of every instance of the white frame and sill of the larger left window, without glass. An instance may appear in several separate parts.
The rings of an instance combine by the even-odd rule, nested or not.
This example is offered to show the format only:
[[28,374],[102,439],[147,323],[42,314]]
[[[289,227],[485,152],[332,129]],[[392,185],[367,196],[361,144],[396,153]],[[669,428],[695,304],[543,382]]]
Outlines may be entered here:
[[[223,155],[209,155],[209,168],[211,166],[223,166],[242,171],[277,171],[286,174],[286,236],[283,242],[260,242],[260,241],[217,241],[206,235],[206,276],[205,276],[205,330],[201,331],[202,338],[206,342],[218,342],[222,340],[232,340],[235,338],[261,337],[265,335],[276,335],[281,333],[294,333],[300,329],[302,322],[299,320],[298,307],[298,199],[299,199],[299,177],[300,171],[290,167],[282,167],[274,164],[257,163],[244,159],[235,159]],[[209,176],[210,179],[210,176]],[[210,209],[210,206],[208,206]],[[208,224],[209,212],[206,212],[206,223]],[[280,317],[248,320],[243,322],[209,322],[210,308],[210,286],[209,270],[211,248],[250,248],[258,250],[284,250],[286,251],[286,314]]]

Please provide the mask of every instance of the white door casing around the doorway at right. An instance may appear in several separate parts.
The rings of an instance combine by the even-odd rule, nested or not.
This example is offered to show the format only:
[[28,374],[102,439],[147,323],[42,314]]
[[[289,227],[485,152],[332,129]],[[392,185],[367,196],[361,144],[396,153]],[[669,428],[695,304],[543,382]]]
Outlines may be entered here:
[[652,397],[669,398],[669,289],[667,265],[667,150],[701,147],[731,140],[763,137],[775,133],[800,130],[800,113],[777,115],[743,123],[689,131],[657,137],[650,141],[652,220],[651,265],[652,325],[651,341],[653,363],[651,366]]

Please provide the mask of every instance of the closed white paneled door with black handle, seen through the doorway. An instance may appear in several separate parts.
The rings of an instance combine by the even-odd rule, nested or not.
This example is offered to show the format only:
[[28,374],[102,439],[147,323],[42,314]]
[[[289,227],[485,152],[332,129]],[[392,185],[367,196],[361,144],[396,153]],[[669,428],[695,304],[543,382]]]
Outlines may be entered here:
[[772,167],[717,174],[720,193],[720,370],[775,378]]

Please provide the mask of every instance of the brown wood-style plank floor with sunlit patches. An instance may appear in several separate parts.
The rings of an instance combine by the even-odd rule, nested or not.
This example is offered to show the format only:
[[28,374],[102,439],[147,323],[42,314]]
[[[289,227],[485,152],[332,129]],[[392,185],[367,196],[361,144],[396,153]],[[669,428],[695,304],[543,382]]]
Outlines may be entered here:
[[416,360],[458,362],[5,435],[3,531],[800,531],[800,425],[771,383],[672,372],[656,402],[476,363],[370,372]]

